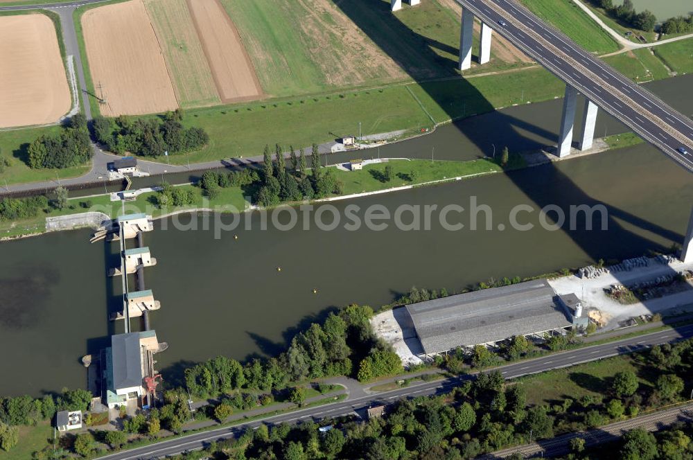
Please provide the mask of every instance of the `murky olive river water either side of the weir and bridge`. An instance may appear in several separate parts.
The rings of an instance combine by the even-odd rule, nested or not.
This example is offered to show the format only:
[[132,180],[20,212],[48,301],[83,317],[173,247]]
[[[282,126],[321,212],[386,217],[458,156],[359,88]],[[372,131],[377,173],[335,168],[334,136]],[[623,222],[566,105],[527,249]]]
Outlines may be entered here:
[[[690,84],[687,76],[651,89],[690,114]],[[381,155],[427,157],[435,145],[439,159],[472,158],[491,142],[526,150],[551,143],[559,110],[560,101],[513,107],[390,145]],[[604,129],[599,123],[597,132]],[[606,123],[607,132],[622,129]],[[335,206],[382,204],[391,211],[401,204],[468,207],[473,196],[493,209],[493,230],[472,231],[467,225],[446,231],[435,219],[430,231],[400,231],[392,225],[384,231],[342,226],[322,231],[315,225],[306,231],[247,231],[241,225],[215,239],[213,229],[164,230],[171,221],[157,222],[145,237],[159,262],[146,269],[146,285],[161,301],[161,310],[151,315],[152,327],[159,340],[170,344],[157,355],[158,369],[175,381],[182,366],[214,355],[244,359],[276,353],[297,326],[324,312],[351,302],[377,307],[412,285],[453,292],[492,277],[530,276],[601,257],[666,249],[683,240],[693,181],[658,150],[638,145]],[[536,212],[523,218],[535,224],[531,231],[498,230],[516,204],[566,209],[597,202],[609,211],[608,231],[547,231],[537,224]],[[257,227],[260,215],[243,219]],[[204,217],[185,215],[180,221],[202,227]],[[120,283],[105,277],[117,247],[88,240],[89,231],[70,231],[0,244],[0,394],[84,387],[79,357],[121,331],[120,324],[113,328],[106,319],[108,306],[119,299]]]

